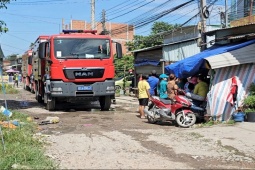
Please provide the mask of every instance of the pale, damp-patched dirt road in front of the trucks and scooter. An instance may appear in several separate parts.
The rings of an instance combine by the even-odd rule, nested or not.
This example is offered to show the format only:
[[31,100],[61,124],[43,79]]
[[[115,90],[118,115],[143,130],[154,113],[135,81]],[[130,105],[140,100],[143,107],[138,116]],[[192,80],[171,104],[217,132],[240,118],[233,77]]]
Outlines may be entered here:
[[[112,111],[48,112],[34,94],[7,95],[10,109],[26,112],[38,123],[58,116],[57,124],[40,125],[47,155],[67,169],[255,168],[255,124],[178,128],[139,119],[136,105],[113,105]],[[117,98],[118,101],[118,98]],[[3,96],[1,104],[3,105]],[[97,103],[94,103],[97,106]]]

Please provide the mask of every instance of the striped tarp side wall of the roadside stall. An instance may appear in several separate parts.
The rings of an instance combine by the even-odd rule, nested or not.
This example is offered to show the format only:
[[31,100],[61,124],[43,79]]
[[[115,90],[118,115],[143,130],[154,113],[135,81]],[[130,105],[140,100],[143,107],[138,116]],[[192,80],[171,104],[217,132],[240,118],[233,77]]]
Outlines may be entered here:
[[[207,94],[207,112],[218,120],[228,120],[237,107],[241,106],[247,95],[248,87],[255,82],[255,64],[242,64],[215,69],[211,89]],[[232,78],[236,78],[236,105],[229,102],[228,95],[232,90]]]

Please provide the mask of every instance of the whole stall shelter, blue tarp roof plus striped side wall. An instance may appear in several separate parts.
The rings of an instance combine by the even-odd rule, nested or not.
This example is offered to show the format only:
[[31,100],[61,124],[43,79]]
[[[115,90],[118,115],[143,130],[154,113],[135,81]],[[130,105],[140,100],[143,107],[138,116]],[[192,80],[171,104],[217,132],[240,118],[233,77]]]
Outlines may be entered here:
[[[246,91],[255,82],[255,40],[213,46],[199,54],[165,67],[169,73],[185,78],[196,75],[206,64],[212,71],[210,91],[207,95],[207,112],[218,120],[228,120],[236,107],[242,105]],[[228,102],[236,78],[236,105]]]

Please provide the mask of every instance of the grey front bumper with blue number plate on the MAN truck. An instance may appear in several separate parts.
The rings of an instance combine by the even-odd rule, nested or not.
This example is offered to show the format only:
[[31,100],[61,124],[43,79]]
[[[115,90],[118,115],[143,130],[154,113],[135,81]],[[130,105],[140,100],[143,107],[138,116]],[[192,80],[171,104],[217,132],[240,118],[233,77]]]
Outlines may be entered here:
[[52,97],[98,97],[113,96],[115,94],[114,85],[114,80],[90,84],[50,81],[50,86],[47,87]]

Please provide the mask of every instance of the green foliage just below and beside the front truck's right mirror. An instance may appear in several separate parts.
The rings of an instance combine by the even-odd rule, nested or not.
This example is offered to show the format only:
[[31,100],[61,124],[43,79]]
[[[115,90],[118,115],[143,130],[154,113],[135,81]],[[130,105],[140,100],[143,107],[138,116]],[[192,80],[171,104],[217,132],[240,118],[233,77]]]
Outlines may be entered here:
[[134,69],[134,56],[124,55],[121,59],[115,56],[114,66],[115,77],[124,77],[129,74],[129,69]]

